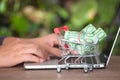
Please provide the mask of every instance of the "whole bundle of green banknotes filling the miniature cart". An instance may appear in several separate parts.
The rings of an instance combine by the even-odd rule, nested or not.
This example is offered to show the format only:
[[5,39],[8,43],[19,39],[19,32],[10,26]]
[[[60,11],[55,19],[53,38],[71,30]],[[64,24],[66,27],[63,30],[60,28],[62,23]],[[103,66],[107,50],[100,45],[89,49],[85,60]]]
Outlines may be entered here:
[[80,55],[95,49],[95,45],[105,39],[107,34],[102,28],[96,29],[92,24],[87,25],[80,32],[66,31],[64,39],[68,41],[70,50],[76,50]]

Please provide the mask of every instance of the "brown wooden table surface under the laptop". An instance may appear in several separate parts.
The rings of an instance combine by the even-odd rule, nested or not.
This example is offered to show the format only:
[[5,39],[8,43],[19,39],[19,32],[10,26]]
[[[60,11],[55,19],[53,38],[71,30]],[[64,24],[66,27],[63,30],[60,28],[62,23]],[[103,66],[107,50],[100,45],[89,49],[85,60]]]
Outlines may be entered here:
[[84,73],[83,69],[25,70],[23,66],[0,68],[0,80],[120,80],[120,56],[112,56],[105,69]]

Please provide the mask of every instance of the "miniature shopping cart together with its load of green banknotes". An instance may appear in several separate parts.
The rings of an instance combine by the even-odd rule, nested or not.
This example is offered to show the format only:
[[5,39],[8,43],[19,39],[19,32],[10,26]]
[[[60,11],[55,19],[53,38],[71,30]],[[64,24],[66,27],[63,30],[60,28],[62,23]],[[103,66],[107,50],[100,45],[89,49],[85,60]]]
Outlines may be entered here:
[[59,48],[62,50],[62,58],[57,65],[57,72],[62,68],[83,68],[86,73],[93,71],[93,65],[99,61],[99,42],[106,37],[105,32],[91,24],[80,32],[69,31],[68,26],[54,29],[58,35]]

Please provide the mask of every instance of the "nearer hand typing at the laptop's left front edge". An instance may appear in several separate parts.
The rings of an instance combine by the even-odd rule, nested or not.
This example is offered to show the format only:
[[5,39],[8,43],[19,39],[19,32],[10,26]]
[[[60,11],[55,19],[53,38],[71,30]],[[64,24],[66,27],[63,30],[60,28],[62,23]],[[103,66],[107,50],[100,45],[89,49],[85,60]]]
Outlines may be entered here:
[[41,45],[19,38],[6,39],[0,46],[0,67],[11,67],[22,62],[43,62],[49,59]]

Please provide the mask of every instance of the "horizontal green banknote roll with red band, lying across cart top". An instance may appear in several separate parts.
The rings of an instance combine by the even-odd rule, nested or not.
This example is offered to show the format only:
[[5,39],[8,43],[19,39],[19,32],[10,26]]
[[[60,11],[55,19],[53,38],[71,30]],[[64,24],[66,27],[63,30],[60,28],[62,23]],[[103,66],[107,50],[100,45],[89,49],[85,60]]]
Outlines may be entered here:
[[96,44],[98,42],[98,38],[94,34],[80,33],[75,31],[65,32],[64,39],[81,44],[85,44],[85,43]]

